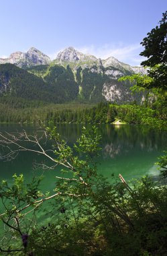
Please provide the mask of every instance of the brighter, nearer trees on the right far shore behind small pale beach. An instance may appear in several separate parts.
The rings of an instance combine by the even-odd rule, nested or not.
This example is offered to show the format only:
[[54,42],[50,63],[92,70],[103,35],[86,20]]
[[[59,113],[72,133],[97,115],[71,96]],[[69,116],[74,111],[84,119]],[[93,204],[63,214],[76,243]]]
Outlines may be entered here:
[[113,123],[117,119],[128,124],[166,124],[159,110],[135,104],[116,105],[102,102],[92,108],[66,110],[52,115],[54,123]]

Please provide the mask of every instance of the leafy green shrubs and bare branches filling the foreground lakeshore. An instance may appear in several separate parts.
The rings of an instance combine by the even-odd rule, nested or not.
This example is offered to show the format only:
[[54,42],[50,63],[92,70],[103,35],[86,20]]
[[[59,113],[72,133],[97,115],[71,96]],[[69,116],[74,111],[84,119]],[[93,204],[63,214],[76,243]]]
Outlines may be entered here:
[[[143,177],[129,187],[121,175],[120,179],[113,175],[112,183],[99,176],[96,157],[101,137],[95,127],[91,133],[83,128],[73,148],[55,127],[48,127],[47,131],[53,143],[50,155],[42,148],[42,134],[46,132],[39,137],[27,133],[19,135],[18,140],[16,135],[13,137],[14,143],[21,143],[20,138],[23,141],[17,150],[22,150],[21,147],[25,150],[24,137],[26,141],[34,141],[34,152],[48,156],[54,168],[60,164],[62,175],[56,177],[54,191],[46,194],[39,187],[41,178],[26,184],[20,174],[13,176],[12,184],[1,182],[0,218],[6,227],[1,253],[166,255],[166,186]],[[7,136],[9,143],[9,133]],[[3,135],[1,143],[4,141]],[[12,153],[11,150],[9,154]]]

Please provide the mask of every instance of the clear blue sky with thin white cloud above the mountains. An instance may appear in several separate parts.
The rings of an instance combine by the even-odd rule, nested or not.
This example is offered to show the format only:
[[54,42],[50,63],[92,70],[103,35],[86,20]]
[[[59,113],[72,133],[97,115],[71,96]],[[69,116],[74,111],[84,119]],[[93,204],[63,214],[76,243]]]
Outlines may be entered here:
[[167,0],[0,0],[0,57],[30,47],[55,59],[68,46],[129,65],[158,25]]

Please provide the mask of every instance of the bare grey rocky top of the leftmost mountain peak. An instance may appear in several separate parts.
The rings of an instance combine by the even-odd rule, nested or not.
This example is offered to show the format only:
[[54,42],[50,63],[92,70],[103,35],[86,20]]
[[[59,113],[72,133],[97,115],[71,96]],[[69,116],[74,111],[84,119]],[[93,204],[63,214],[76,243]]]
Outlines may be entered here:
[[3,59],[0,58],[0,64],[11,63],[17,65],[17,67],[32,67],[36,65],[46,65],[51,62],[50,57],[44,55],[38,49],[32,47],[27,53],[11,53],[9,58]]

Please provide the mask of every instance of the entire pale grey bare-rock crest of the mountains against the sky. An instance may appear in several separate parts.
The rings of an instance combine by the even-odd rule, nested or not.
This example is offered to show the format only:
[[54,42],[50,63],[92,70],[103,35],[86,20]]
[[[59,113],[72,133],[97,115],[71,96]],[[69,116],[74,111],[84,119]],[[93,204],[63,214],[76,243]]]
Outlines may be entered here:
[[[9,58],[0,58],[0,64],[11,63],[22,68],[33,67],[36,65],[48,65],[51,62],[52,60],[50,57],[34,47],[31,47],[27,53],[18,51],[11,53]],[[78,66],[81,66],[82,68],[96,66],[98,67],[98,70],[101,71],[107,67],[115,67],[120,70],[126,69],[132,73],[146,73],[146,69],[144,69],[144,67],[131,67],[128,64],[118,61],[115,57],[100,59],[93,55],[80,53],[72,46],[60,51],[56,59],[53,60],[53,63],[59,65],[72,64],[73,69],[76,69]]]

